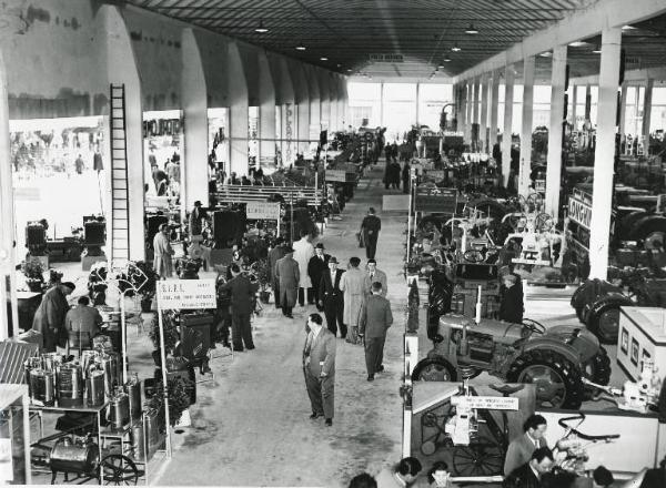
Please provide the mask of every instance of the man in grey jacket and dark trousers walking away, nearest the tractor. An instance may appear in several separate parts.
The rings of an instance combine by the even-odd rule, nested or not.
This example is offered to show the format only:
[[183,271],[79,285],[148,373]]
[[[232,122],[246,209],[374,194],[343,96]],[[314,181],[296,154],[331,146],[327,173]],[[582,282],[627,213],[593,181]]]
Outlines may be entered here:
[[384,370],[384,342],[386,331],[393,324],[391,303],[382,296],[382,284],[372,284],[372,295],[363,303],[361,308],[361,323],[359,336],[365,337],[365,367],[367,380],[373,382],[375,373]]

